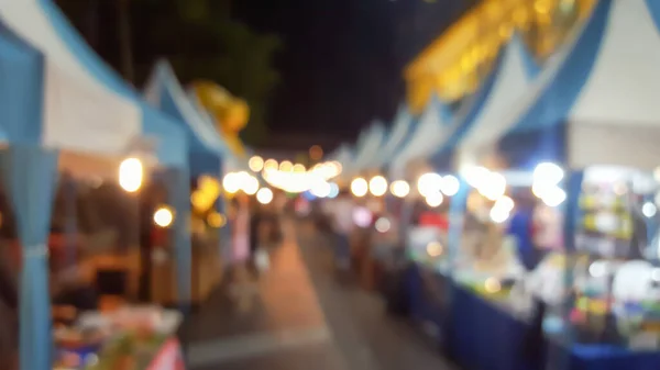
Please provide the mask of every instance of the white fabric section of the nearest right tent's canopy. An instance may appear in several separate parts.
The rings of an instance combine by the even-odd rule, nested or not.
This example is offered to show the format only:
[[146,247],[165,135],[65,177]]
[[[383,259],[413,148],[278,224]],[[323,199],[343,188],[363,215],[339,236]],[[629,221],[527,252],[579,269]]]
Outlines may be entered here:
[[660,165],[660,31],[648,4],[610,5],[595,65],[568,117],[569,162],[575,168]]

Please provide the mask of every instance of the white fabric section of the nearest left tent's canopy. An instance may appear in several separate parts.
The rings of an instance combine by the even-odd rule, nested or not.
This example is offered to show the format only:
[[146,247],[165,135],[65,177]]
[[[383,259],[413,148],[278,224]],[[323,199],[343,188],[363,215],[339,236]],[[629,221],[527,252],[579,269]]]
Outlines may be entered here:
[[59,38],[37,0],[0,0],[0,19],[44,54],[43,144],[124,154],[141,134],[140,108],[99,81]]

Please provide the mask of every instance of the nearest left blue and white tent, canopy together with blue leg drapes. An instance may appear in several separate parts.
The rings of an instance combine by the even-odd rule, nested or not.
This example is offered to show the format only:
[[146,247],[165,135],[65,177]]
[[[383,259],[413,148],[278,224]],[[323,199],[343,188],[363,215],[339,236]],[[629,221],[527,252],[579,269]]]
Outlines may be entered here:
[[9,143],[2,165],[23,246],[20,365],[45,370],[48,351],[34,348],[52,348],[46,245],[58,153],[119,160],[153,149],[160,165],[177,169],[168,184],[177,195],[178,293],[189,302],[187,143],[105,66],[52,1],[0,1],[0,131]]

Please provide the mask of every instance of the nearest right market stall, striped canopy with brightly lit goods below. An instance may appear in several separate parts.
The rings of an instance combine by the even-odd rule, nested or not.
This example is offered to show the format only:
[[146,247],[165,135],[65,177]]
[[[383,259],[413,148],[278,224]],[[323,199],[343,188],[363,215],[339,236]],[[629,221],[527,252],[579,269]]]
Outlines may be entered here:
[[[659,14],[654,2],[601,1],[519,103],[492,131],[473,131],[464,139],[470,145],[461,149],[472,155],[462,155],[458,168],[472,166],[461,171],[464,188],[493,198],[494,204],[482,208],[490,209],[485,216],[513,227],[521,205],[502,199],[527,188],[554,216],[540,212],[547,229],[518,234],[518,240],[537,237],[537,247],[554,251],[514,279],[512,289],[506,277],[490,274],[480,291],[459,279],[465,271],[474,276],[473,268],[453,266],[452,325],[446,333],[459,362],[479,369],[659,363],[656,257],[649,251],[656,250],[649,240],[657,229],[650,200],[659,157],[652,138],[660,113],[652,98],[660,86]],[[469,243],[465,203],[457,209],[461,217],[451,217],[450,251]],[[452,240],[452,228],[460,238]],[[504,245],[498,239],[485,240]]]

